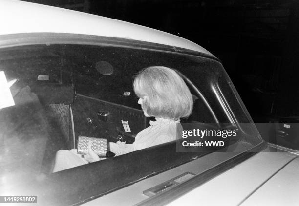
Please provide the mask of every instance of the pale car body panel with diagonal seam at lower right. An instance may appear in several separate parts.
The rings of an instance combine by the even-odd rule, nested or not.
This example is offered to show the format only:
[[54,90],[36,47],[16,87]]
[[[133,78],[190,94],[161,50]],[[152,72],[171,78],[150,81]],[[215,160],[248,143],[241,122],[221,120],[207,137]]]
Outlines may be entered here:
[[298,205],[299,158],[290,152],[259,152],[169,205]]

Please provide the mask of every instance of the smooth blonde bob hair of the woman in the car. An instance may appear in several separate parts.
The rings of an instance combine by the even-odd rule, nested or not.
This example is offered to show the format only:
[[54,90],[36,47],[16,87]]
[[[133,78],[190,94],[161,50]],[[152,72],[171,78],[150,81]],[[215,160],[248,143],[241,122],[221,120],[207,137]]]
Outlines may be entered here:
[[184,80],[172,69],[162,66],[145,68],[135,77],[134,92],[142,98],[149,116],[179,119],[188,117],[193,99]]

